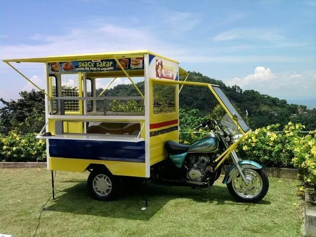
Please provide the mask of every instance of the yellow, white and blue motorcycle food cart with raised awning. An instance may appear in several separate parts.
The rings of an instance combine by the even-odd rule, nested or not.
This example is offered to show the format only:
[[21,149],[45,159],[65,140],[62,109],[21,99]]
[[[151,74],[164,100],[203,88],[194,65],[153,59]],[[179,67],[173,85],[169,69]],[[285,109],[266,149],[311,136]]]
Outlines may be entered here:
[[[250,128],[220,87],[186,81],[189,74],[173,59],[140,50],[3,61],[45,94],[46,124],[37,138],[46,139],[47,169],[52,171],[52,185],[53,170],[88,170],[91,172],[88,188],[92,196],[109,200],[118,196],[119,182],[126,178],[155,180],[158,177],[156,167],[159,170],[159,164],[168,158],[172,159],[174,167],[181,167],[179,160],[184,162],[186,156],[183,154],[188,147],[176,145],[175,142],[179,137],[179,92],[183,85],[208,87],[240,133],[234,143],[222,149],[211,161],[207,159],[208,171],[216,172],[214,179],[201,182],[201,179],[192,178],[201,175],[196,171],[191,172],[192,179],[185,181],[187,186],[205,187],[208,184],[209,187],[218,178],[223,161],[229,156],[234,164],[223,182],[231,183],[237,174],[234,177],[239,178],[237,185],[241,191],[252,182],[252,176],[244,174],[242,169],[262,168],[253,161],[240,161],[237,158],[234,149],[250,132]],[[43,63],[44,91],[11,63]],[[181,81],[180,76],[186,78]],[[104,96],[110,84],[122,77],[129,79],[137,96]],[[142,88],[141,84],[134,82],[135,77],[144,79]],[[102,92],[96,88],[99,78],[113,78]],[[126,109],[128,106],[132,109]],[[217,148],[215,150],[218,152]],[[182,156],[179,157],[179,153]]]

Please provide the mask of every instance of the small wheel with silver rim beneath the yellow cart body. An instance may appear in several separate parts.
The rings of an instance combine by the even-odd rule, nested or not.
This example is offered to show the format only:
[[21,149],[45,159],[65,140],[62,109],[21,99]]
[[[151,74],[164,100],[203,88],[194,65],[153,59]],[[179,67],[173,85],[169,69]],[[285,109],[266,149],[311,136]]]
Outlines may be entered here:
[[87,185],[90,194],[97,200],[109,201],[118,197],[119,180],[105,170],[92,171]]

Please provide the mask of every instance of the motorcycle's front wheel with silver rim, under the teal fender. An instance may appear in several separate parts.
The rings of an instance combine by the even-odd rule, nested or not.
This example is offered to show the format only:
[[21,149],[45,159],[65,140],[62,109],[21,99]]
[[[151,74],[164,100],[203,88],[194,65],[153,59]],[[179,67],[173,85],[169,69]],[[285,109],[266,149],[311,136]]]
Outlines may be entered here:
[[262,169],[244,168],[248,184],[245,184],[239,175],[235,174],[232,182],[227,184],[227,189],[231,195],[242,202],[258,202],[264,198],[269,189],[269,179],[266,172]]

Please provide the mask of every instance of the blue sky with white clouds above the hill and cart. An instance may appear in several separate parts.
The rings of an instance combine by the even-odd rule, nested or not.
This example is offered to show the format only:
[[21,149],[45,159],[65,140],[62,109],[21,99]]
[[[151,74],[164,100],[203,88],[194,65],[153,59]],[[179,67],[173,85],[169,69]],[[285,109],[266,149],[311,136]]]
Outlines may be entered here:
[[[1,59],[149,49],[228,85],[316,98],[316,0],[10,0],[0,11]],[[17,67],[43,85],[42,65]],[[0,97],[31,88],[0,63]]]

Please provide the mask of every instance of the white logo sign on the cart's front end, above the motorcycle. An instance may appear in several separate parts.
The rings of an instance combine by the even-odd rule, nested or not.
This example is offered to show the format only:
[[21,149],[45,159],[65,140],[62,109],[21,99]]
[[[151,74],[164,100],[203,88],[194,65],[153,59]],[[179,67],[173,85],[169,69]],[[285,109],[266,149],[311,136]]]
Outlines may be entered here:
[[150,54],[149,77],[154,79],[179,80],[179,64]]

